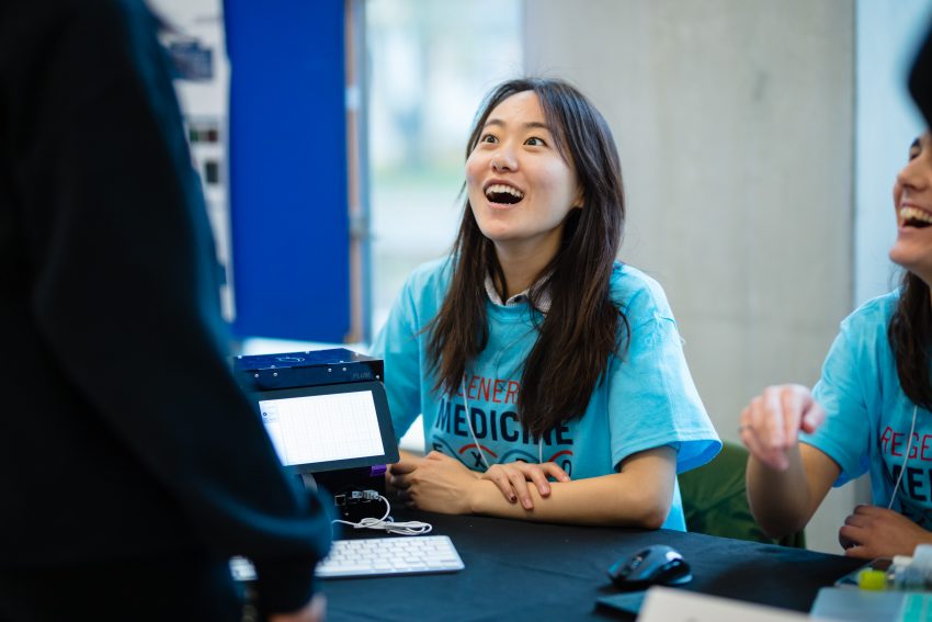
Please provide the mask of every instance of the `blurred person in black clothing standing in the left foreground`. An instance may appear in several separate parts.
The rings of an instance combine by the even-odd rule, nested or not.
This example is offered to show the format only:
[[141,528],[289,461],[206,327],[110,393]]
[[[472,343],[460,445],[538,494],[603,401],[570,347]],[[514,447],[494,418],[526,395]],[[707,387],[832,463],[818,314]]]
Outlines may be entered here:
[[317,620],[319,500],[225,364],[157,21],[0,0],[0,619]]

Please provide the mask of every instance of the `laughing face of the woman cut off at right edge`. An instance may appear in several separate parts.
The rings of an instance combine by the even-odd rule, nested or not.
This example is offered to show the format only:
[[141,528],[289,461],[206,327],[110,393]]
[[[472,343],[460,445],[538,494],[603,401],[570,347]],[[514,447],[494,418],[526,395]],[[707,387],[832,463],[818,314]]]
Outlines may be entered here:
[[897,241],[890,259],[932,284],[932,137],[909,148],[909,161],[894,184]]

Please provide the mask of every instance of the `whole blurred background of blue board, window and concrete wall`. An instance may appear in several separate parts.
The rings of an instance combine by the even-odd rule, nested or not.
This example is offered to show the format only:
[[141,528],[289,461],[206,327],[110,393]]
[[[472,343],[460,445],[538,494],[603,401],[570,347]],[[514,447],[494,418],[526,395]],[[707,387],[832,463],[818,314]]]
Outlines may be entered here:
[[[609,120],[620,258],[666,289],[724,439],[763,386],[811,385],[839,321],[895,286],[928,0],[154,4],[180,58],[212,53],[178,88],[189,125],[218,131],[192,151],[246,353],[365,350],[411,269],[451,247],[482,95],[526,73],[570,80]],[[811,549],[839,552],[866,489],[832,493]]]

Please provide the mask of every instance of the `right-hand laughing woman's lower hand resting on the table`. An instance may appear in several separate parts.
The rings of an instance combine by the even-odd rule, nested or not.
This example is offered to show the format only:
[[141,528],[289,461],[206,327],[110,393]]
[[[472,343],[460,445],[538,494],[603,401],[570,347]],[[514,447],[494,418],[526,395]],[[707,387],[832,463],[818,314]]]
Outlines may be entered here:
[[857,506],[838,530],[849,557],[874,559],[912,555],[917,544],[932,544],[932,533],[901,513],[877,506]]

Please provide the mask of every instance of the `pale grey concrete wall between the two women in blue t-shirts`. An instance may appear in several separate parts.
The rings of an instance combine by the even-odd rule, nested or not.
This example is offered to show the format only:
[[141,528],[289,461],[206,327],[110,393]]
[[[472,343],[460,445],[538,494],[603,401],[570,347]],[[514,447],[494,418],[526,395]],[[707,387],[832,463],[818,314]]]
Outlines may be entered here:
[[[621,257],[667,290],[724,439],[766,384],[811,385],[852,309],[850,0],[530,0],[526,70],[577,83],[615,132]],[[853,489],[808,531],[838,552]]]

